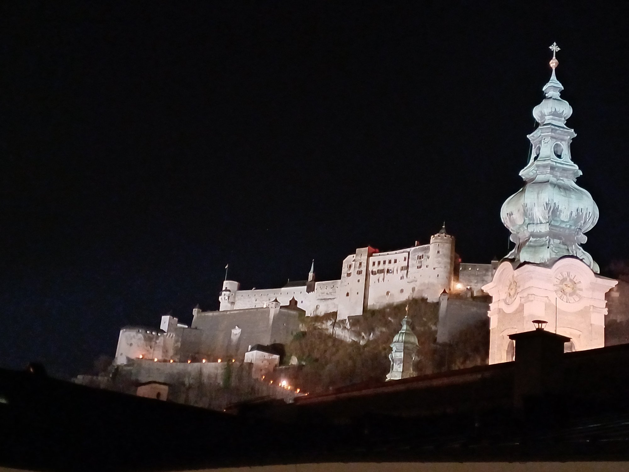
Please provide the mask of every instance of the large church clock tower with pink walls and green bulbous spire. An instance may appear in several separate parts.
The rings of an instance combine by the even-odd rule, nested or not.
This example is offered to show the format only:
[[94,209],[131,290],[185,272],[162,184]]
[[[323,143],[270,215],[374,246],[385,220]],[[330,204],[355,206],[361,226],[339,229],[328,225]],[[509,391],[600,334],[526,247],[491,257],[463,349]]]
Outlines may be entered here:
[[533,108],[539,123],[528,135],[532,153],[520,172],[524,186],[504,202],[500,216],[515,247],[483,289],[489,307],[489,363],[511,360],[509,335],[529,330],[532,320],[572,339],[567,350],[604,346],[605,293],[616,281],[581,248],[598,220],[592,196],[576,184],[581,176],[570,145],[576,133],[565,125],[572,107],[560,97],[564,86],[555,69],[556,43],[550,46],[552,74],[545,98]]

